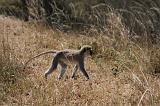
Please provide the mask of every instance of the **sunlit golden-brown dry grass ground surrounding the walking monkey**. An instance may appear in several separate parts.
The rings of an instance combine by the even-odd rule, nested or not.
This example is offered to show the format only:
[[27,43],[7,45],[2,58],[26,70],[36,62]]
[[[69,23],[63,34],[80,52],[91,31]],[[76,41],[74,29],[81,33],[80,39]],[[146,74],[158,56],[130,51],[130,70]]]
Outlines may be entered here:
[[[155,59],[159,62],[156,58],[159,47],[151,50],[144,46],[148,42],[139,46],[131,41],[120,17],[110,15],[105,34],[99,34],[95,29],[85,35],[63,33],[2,16],[0,23],[0,73],[9,73],[8,76],[1,74],[0,78],[14,76],[15,79],[10,84],[6,84],[10,81],[1,80],[0,105],[160,105],[160,79],[158,74],[148,73],[155,69],[151,63]],[[43,73],[51,56],[32,61],[22,71],[23,63],[39,52],[78,48],[83,44],[90,44],[95,49],[94,57],[86,60],[86,69],[91,76],[89,81],[85,81],[80,72],[77,80],[70,79],[71,67],[62,80],[56,80],[57,70],[45,81]]]

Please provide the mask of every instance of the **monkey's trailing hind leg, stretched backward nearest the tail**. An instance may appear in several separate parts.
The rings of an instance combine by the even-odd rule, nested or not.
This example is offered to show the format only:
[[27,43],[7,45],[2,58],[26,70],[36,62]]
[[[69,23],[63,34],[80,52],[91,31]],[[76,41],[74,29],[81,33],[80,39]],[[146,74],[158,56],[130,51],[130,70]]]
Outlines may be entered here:
[[47,79],[47,76],[49,74],[51,74],[57,68],[57,65],[58,65],[58,60],[57,60],[56,57],[53,57],[53,59],[52,59],[52,61],[50,63],[49,68],[47,69],[47,71],[44,74],[45,79]]

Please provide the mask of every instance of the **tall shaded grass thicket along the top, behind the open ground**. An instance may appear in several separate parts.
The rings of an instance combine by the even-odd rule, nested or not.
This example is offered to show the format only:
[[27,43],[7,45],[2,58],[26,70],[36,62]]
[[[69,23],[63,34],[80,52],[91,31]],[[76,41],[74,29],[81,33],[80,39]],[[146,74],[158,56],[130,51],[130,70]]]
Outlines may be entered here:
[[50,25],[64,31],[92,27],[104,31],[108,13],[114,10],[113,12],[121,15],[123,24],[132,36],[148,36],[155,44],[160,39],[159,0],[37,0],[29,2],[28,8],[30,17],[39,21],[46,20]]

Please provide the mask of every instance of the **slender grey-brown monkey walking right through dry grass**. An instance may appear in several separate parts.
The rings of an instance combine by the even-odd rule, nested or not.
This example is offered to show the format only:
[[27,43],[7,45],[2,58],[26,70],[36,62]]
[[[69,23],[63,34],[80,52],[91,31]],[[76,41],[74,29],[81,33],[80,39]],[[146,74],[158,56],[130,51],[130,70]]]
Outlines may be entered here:
[[45,54],[53,54],[53,58],[51,60],[51,63],[49,65],[49,68],[45,71],[44,77],[47,79],[48,75],[51,74],[54,70],[57,69],[58,64],[61,67],[60,74],[58,76],[58,79],[61,79],[66,71],[68,63],[74,64],[73,67],[73,73],[71,78],[75,79],[75,74],[79,68],[79,70],[82,72],[82,74],[85,76],[86,80],[89,80],[89,75],[87,74],[85,68],[84,68],[84,58],[86,55],[93,54],[93,49],[89,45],[82,46],[79,50],[74,49],[65,49],[65,50],[50,50],[47,52],[42,52],[31,59],[29,59],[26,62],[26,65],[33,60],[34,58],[37,58],[39,56],[45,55]]

